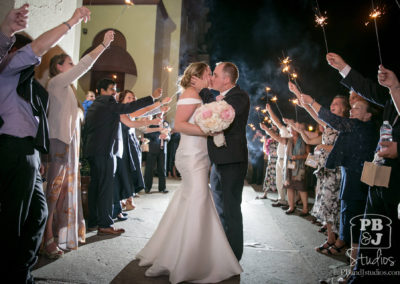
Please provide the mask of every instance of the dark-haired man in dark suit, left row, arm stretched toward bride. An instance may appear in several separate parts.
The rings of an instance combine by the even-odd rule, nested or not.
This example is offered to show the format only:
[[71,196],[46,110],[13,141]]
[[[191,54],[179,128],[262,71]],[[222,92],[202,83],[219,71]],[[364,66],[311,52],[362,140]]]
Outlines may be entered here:
[[97,91],[100,95],[88,109],[83,131],[83,153],[89,160],[91,177],[88,227],[98,229],[98,235],[120,235],[125,230],[115,228],[112,218],[116,157],[122,157],[124,151],[120,115],[151,105],[161,94],[118,104],[116,83],[111,79],[100,80]]

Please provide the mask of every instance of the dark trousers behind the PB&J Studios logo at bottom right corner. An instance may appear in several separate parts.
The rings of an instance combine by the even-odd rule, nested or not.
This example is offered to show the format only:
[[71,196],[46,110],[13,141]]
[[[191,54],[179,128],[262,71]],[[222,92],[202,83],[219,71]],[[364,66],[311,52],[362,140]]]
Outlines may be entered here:
[[[400,220],[397,206],[400,200],[384,197],[382,192],[385,190],[374,187],[369,191],[364,218],[382,219],[383,228],[367,226],[364,232],[361,231],[356,268],[348,283],[399,283]],[[382,241],[374,248],[369,239],[376,240],[377,233],[382,234]]]

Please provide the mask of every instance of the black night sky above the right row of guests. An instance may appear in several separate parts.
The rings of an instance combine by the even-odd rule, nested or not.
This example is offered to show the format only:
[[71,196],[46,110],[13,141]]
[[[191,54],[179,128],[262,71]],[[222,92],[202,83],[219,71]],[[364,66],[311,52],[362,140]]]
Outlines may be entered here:
[[[383,65],[400,78],[400,7],[396,0],[374,0],[384,5],[385,14],[378,18],[378,33]],[[280,59],[290,56],[304,93],[329,106],[337,94],[348,95],[340,84],[339,73],[327,64],[322,28],[315,23],[316,1],[301,0],[208,0],[210,8],[208,50],[211,66],[219,61],[232,61],[239,67],[239,85],[245,89],[252,108],[264,107],[265,86],[278,96],[285,117],[295,118],[294,96],[287,88],[288,77],[280,69]],[[325,26],[328,49],[363,75],[376,81],[379,55],[373,21],[367,26],[372,11],[370,0],[319,0],[320,11],[326,12]],[[275,109],[276,110],[276,109]],[[312,122],[300,110],[299,121]],[[257,123],[253,112],[249,122]]]

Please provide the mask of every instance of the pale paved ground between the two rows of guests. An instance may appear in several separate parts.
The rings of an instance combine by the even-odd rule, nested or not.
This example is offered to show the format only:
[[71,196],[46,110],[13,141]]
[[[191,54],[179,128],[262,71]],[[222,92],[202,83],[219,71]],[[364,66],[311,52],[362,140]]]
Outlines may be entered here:
[[[169,283],[167,277],[145,277],[145,268],[137,265],[135,254],[150,238],[179,184],[178,180],[168,179],[168,194],[155,192],[135,199],[137,209],[129,211],[127,221],[117,223],[126,230],[122,236],[99,237],[91,232],[85,245],[61,259],[41,257],[33,272],[37,282]],[[315,252],[314,247],[325,240],[316,225],[307,218],[287,216],[280,208],[273,208],[270,200],[255,200],[258,194],[253,187],[245,186],[245,249],[240,262],[244,272],[222,283],[318,283],[319,279],[339,275],[347,267],[345,257]],[[273,198],[274,194],[270,196]],[[331,280],[335,283],[334,278]]]

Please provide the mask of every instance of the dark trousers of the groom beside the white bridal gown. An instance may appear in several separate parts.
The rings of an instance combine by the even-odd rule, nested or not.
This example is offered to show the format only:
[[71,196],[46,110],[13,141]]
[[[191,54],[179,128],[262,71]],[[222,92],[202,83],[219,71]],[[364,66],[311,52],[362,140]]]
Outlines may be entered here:
[[215,207],[238,260],[243,254],[242,192],[247,163],[213,164],[210,175]]

